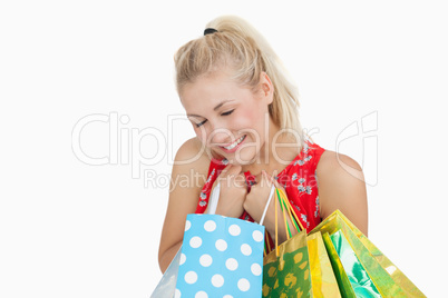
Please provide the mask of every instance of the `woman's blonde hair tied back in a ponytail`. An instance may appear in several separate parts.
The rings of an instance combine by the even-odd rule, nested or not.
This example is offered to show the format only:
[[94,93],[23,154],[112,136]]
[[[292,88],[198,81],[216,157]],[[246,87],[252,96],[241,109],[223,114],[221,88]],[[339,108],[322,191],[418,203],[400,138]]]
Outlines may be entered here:
[[187,42],[174,57],[177,92],[199,76],[212,74],[227,64],[234,71],[233,79],[252,90],[257,89],[261,74],[265,72],[274,87],[270,116],[281,130],[295,135],[302,148],[299,92],[267,41],[249,22],[234,16],[218,17],[206,28],[217,32]]

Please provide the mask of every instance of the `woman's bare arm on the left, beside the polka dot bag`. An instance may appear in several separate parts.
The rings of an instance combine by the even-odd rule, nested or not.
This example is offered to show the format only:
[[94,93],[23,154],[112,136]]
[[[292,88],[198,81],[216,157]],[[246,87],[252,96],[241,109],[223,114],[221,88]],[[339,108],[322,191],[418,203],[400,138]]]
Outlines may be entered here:
[[[185,165],[178,163],[186,160],[191,161]],[[196,139],[191,139],[179,148],[174,163],[169,201],[158,249],[158,264],[162,272],[165,272],[181,248],[186,216],[196,210],[210,159],[205,153],[201,155],[201,143]]]

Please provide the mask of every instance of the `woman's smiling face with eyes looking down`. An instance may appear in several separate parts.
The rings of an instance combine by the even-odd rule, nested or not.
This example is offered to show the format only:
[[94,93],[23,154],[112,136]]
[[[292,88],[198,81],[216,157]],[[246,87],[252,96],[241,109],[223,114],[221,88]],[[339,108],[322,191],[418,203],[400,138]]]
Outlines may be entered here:
[[181,93],[197,138],[233,165],[254,162],[269,136],[273,87],[265,73],[259,86],[253,92],[221,71],[184,86]]

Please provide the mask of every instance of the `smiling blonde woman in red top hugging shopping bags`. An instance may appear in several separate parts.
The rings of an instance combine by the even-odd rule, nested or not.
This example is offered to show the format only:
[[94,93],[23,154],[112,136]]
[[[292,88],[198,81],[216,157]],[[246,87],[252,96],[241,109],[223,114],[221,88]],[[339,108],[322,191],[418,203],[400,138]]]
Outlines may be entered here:
[[[306,230],[340,209],[367,235],[361,168],[305,139],[296,89],[255,29],[236,17],[217,18],[177,51],[175,66],[196,138],[179,148],[173,167],[159,246],[163,272],[182,245],[186,215],[206,212],[217,185],[217,215],[259,221],[274,185],[284,189]],[[274,210],[271,200],[264,219],[271,237]]]

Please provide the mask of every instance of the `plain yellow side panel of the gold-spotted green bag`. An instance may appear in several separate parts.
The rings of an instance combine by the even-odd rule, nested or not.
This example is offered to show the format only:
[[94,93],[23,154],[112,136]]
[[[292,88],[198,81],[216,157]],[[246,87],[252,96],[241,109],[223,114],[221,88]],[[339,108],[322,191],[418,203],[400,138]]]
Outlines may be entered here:
[[313,297],[341,297],[320,232],[306,237]]

